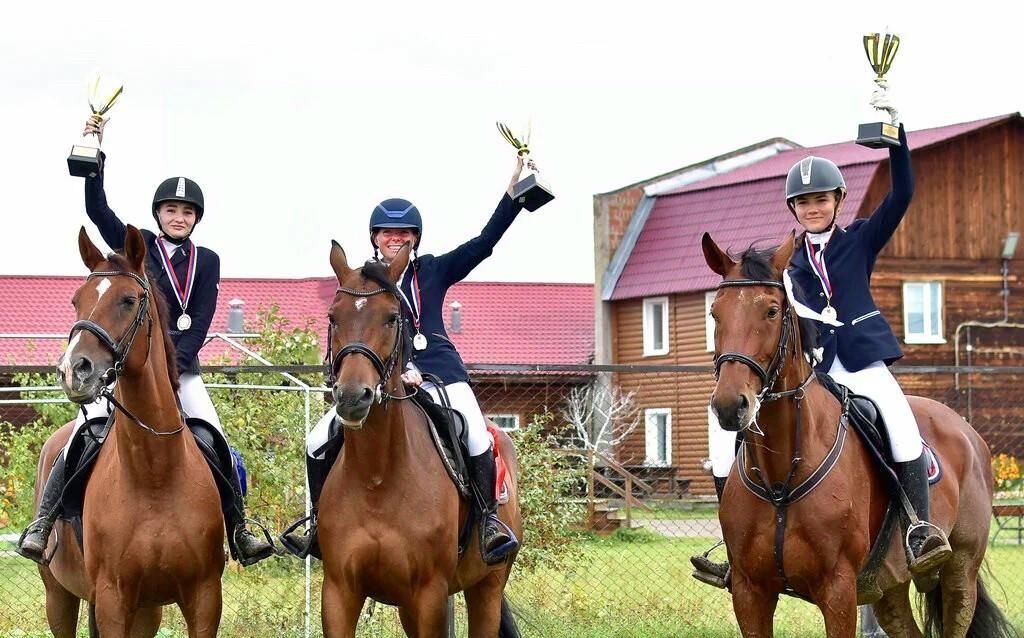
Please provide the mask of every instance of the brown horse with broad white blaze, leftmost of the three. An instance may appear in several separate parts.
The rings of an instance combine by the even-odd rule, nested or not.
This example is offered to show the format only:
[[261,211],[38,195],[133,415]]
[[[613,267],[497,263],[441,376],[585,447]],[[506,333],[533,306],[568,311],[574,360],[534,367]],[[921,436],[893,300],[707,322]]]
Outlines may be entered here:
[[[177,603],[189,638],[215,636],[224,567],[220,498],[178,412],[174,350],[163,300],[145,275],[145,243],[133,226],[124,255],[103,257],[85,228],[78,243],[91,274],[75,293],[79,321],[58,376],[68,397],[85,403],[113,375],[120,407],[85,488],[84,552],[72,526],[58,521],[53,558],[39,568],[50,630],[74,637],[86,600],[91,636],[151,637],[161,605]],[[70,434],[71,424],[43,446],[37,505]]]

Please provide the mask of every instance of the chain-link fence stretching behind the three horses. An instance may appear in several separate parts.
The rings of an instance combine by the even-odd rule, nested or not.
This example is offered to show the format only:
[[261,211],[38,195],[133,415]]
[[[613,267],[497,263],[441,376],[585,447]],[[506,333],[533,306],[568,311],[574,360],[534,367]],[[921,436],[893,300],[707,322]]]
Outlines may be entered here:
[[[507,590],[523,635],[738,635],[726,592],[693,580],[688,560],[721,534],[707,470],[710,371],[474,368],[483,412],[517,431],[520,454],[537,454],[540,446],[550,453],[546,467],[530,470],[535,484],[524,490],[527,520],[537,521],[524,544],[536,551],[524,551]],[[290,370],[298,383],[281,373],[236,367],[205,374],[228,437],[246,460],[250,513],[278,530],[304,510],[303,433],[310,418],[328,409],[313,368]],[[952,407],[985,436],[993,455],[1001,455],[993,469],[997,516],[986,578],[997,604],[1024,630],[1024,495],[1017,464],[1024,456],[1024,398],[1017,391],[1022,375],[1021,369],[898,369],[908,393]],[[8,375],[0,384],[6,386],[0,421],[12,424],[0,438],[0,636],[48,635],[36,567],[9,547],[31,516],[33,455],[57,423],[40,416],[57,419],[48,409],[65,407],[62,395],[42,382]],[[25,387],[31,383],[36,390]],[[570,520],[560,527],[550,520],[558,517]],[[275,557],[246,569],[231,563],[221,635],[319,636],[319,587],[315,561]],[[456,634],[465,635],[461,596],[455,604]],[[807,603],[785,598],[775,618],[778,636],[823,634],[820,614]],[[175,609],[168,607],[165,619],[162,636],[184,635]],[[84,623],[80,627],[85,635]],[[392,608],[368,605],[360,635],[402,634]]]

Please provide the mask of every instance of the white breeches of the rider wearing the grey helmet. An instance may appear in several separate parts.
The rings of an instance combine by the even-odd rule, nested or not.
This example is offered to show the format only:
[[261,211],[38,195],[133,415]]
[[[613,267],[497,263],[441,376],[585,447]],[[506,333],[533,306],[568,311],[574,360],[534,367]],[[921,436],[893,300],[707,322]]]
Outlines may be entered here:
[[[918,420],[910,410],[910,403],[903,389],[889,368],[882,361],[874,361],[858,372],[850,372],[836,357],[828,376],[850,388],[856,394],[871,398],[879,407],[886,422],[886,432],[897,463],[913,461],[924,451]],[[712,473],[715,476],[729,475],[736,459],[736,433],[723,430],[711,408],[708,409],[708,448]]]

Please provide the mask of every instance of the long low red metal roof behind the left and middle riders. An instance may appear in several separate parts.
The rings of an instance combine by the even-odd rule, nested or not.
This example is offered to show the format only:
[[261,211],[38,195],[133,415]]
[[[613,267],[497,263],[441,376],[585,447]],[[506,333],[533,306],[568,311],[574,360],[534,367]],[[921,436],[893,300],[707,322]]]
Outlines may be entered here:
[[[71,298],[82,277],[0,275],[0,334],[62,334],[74,323]],[[224,279],[210,332],[227,332],[227,303],[246,302],[247,329],[258,311],[276,303],[292,325],[307,321],[326,339],[327,307],[334,278],[302,280]],[[451,304],[462,304],[462,329],[451,331]],[[470,364],[585,364],[594,351],[594,287],[589,284],[463,282],[445,300],[445,325]],[[50,365],[65,342],[0,338],[0,365]],[[201,359],[227,354],[211,342]],[[233,357],[232,357],[233,358]]]

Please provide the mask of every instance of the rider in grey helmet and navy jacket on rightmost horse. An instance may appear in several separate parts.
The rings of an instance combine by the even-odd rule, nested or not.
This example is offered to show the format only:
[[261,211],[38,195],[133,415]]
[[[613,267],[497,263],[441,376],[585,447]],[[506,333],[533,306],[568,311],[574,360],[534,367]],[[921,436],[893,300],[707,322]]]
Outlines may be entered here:
[[[880,109],[895,110],[886,103]],[[871,297],[870,273],[879,253],[896,231],[913,196],[913,173],[906,132],[899,125],[898,146],[889,147],[892,190],[865,219],[846,228],[836,224],[846,198],[846,181],[839,167],[819,157],[795,164],[785,180],[785,202],[804,228],[788,274],[796,291],[809,291],[796,300],[817,314],[816,327],[822,355],[815,370],[827,373],[853,392],[870,397],[886,423],[896,475],[918,518],[929,520],[928,455],[910,405],[889,366],[903,356],[889,323]],[[735,433],[723,430],[715,415],[710,419],[710,448],[715,491],[719,501],[735,460]],[[951,554],[945,534],[932,524],[914,526],[907,543],[909,567],[928,573]],[[724,584],[728,563],[716,563],[707,554],[691,559],[698,580]]]

